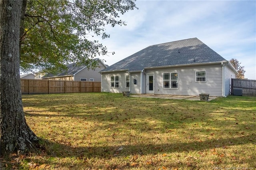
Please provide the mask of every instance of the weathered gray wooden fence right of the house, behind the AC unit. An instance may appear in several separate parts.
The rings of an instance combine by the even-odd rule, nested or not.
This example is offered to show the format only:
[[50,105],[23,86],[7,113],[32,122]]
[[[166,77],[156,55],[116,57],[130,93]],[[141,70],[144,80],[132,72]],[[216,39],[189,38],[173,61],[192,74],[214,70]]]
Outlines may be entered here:
[[243,89],[243,95],[245,96],[256,96],[256,80],[232,79],[232,94],[235,88]]

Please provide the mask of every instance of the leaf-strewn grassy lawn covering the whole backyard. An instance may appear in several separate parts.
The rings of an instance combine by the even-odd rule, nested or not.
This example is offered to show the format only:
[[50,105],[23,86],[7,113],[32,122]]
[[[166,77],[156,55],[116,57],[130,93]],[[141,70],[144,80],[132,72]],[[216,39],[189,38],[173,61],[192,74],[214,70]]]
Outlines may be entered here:
[[111,93],[23,95],[38,154],[6,169],[256,169],[256,97],[213,101]]

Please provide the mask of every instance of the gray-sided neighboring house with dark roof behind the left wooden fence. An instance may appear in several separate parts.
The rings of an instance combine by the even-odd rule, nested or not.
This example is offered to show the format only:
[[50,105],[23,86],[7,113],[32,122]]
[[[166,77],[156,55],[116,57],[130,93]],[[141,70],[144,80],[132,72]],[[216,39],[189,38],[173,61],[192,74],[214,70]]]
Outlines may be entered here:
[[94,69],[88,69],[89,65],[76,65],[76,63],[68,64],[68,69],[56,74],[47,74],[42,79],[50,80],[67,80],[67,81],[101,81],[100,70],[105,69],[107,66],[100,60],[98,61],[98,67]]

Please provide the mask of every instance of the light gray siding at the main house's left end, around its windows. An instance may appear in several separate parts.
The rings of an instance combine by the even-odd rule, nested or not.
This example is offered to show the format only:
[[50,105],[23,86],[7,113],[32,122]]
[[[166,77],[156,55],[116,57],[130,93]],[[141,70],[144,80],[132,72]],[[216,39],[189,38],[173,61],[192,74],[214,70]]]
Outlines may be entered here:
[[[101,82],[101,91],[110,92],[110,93],[122,93],[123,91],[130,91],[129,88],[126,88],[126,75],[129,75],[127,72],[113,72],[113,73],[102,73],[102,82]],[[110,87],[110,77],[119,76],[119,88]],[[131,81],[131,77],[130,77]],[[138,81],[137,81],[138,82]],[[133,83],[130,82],[130,85]]]

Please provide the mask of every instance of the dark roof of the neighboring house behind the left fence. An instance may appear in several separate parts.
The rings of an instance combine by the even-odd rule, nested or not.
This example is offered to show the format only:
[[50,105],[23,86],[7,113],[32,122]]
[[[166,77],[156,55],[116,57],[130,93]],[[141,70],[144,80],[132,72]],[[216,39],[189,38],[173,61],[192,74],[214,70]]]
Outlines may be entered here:
[[[106,66],[99,58],[92,59],[93,61],[99,61],[101,62],[104,66]],[[90,64],[89,64],[90,65]],[[67,70],[64,70],[60,73],[52,74],[48,73],[44,75],[42,78],[48,78],[48,77],[63,77],[63,76],[70,76],[70,75],[76,75],[79,71],[82,69],[86,68],[88,65],[77,65],[77,63],[71,63],[67,65]]]

